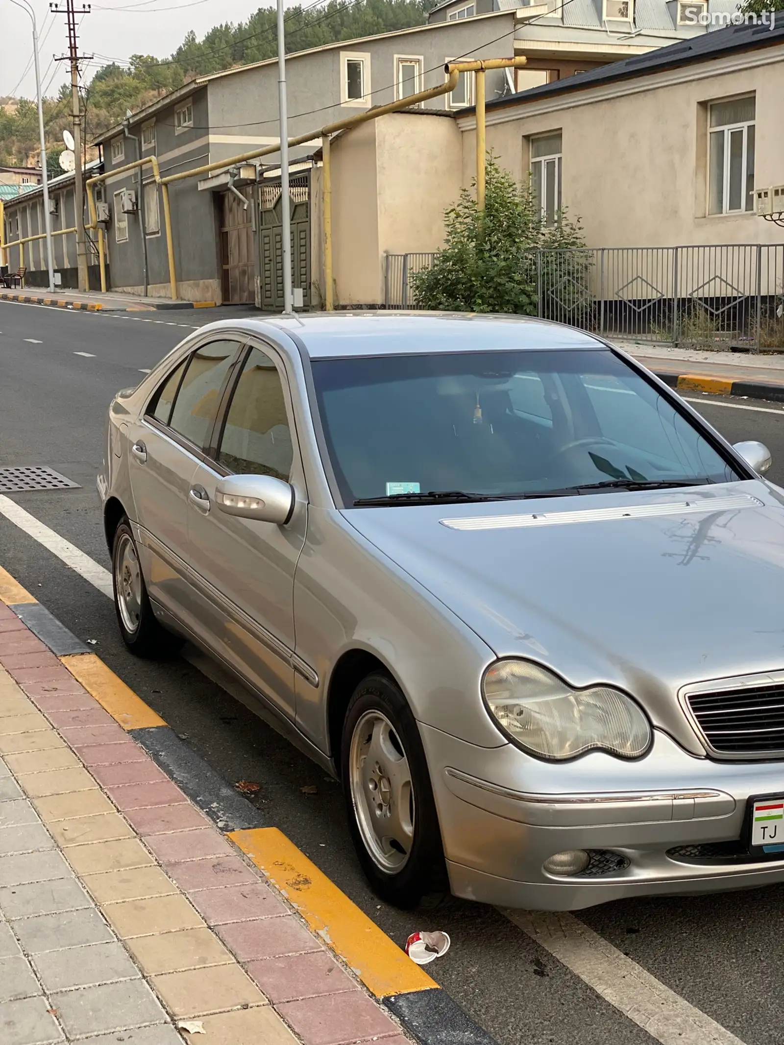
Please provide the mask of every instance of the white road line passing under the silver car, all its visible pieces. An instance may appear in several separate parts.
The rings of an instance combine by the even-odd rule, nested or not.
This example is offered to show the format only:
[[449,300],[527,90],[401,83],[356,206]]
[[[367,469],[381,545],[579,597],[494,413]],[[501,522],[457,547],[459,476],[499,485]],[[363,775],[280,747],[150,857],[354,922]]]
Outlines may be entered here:
[[[114,599],[112,576],[89,555],[0,494],[0,512],[69,565],[102,595]],[[203,654],[187,655],[194,667],[224,686],[203,666]],[[200,663],[201,661],[201,663]],[[222,669],[221,669],[222,670]],[[228,692],[232,692],[228,686]],[[695,1008],[573,914],[502,910],[553,957],[662,1045],[743,1045],[735,1035]]]

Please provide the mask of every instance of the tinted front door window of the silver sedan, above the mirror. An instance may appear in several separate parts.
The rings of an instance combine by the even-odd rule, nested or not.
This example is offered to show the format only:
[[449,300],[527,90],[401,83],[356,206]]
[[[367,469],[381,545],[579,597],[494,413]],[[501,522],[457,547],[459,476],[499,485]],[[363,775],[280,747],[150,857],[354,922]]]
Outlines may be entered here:
[[217,460],[233,472],[287,480],[292,470],[292,434],[280,375],[275,364],[254,348],[231,397]]

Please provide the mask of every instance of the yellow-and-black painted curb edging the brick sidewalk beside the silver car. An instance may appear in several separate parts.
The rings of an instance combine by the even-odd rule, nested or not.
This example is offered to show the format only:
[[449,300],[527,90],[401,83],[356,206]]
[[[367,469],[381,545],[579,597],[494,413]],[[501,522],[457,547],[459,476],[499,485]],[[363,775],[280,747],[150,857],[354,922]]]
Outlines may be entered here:
[[[0,601],[289,900],[420,1045],[497,1045],[428,973],[0,566]],[[361,968],[358,968],[361,965]]]

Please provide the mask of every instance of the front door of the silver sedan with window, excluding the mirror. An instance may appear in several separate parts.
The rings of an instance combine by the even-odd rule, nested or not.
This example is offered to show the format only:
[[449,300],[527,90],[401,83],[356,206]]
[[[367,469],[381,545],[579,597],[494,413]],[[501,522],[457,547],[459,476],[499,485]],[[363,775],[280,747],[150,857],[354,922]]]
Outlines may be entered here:
[[[307,506],[278,364],[271,350],[251,348],[237,368],[214,454],[192,480],[189,571],[205,600],[215,652],[294,719],[294,572]],[[299,496],[290,522],[279,527],[222,512],[215,486],[231,473],[291,481]]]

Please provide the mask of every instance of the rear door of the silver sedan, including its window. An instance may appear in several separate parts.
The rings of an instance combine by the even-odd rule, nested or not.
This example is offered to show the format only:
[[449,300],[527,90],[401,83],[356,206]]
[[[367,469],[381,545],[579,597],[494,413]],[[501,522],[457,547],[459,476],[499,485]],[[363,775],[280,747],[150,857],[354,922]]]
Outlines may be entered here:
[[130,426],[129,474],[136,537],[151,598],[182,618],[190,602],[186,506],[210,441],[240,342],[222,339],[191,352],[156,390]]

